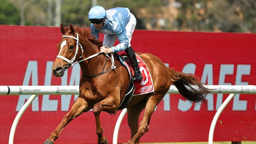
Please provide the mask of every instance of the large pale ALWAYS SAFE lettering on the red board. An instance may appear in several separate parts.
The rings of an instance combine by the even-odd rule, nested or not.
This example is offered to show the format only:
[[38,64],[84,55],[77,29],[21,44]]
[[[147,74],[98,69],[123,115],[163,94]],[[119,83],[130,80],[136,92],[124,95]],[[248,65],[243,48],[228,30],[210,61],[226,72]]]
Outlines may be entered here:
[[[52,79],[52,61],[47,61],[46,63],[46,70],[45,70],[45,85],[51,85],[51,79]],[[165,63],[166,66],[169,66],[168,63]],[[195,74],[197,65],[193,63],[188,63],[184,66],[182,72]],[[242,81],[243,75],[250,75],[250,68],[251,65],[237,65],[236,69],[234,69],[235,65],[233,64],[221,64],[220,70],[219,70],[219,83],[218,85],[231,85],[231,83],[225,82],[225,77],[227,75],[234,75],[236,74],[236,82],[235,85],[248,85],[249,83],[246,81]],[[64,76],[61,77],[61,85],[67,85],[67,74],[68,71],[65,72]],[[80,66],[74,65],[72,68],[72,72],[70,74],[69,78],[69,85],[79,85],[80,81]],[[216,78],[215,78],[216,79]],[[38,85],[38,67],[37,67],[37,61],[28,61],[28,65],[26,68],[26,72],[24,74],[24,79],[22,85],[29,85],[29,82],[32,82],[32,85]],[[202,78],[201,81],[203,83],[206,83],[207,85],[213,85],[213,64],[205,64],[204,69],[202,72]],[[216,84],[215,84],[216,85]],[[150,89],[150,87],[143,88],[144,90]],[[70,109],[70,101],[71,101],[72,95],[61,95],[61,111],[68,111]],[[28,100],[30,95],[20,95],[19,100],[17,102],[16,111],[19,111]],[[75,95],[74,100],[78,97],[78,95]],[[221,103],[223,103],[223,94],[217,94],[217,102],[214,105],[213,102],[213,94],[208,94],[206,97],[206,100],[208,101],[207,110],[208,111],[217,111],[217,109],[220,107]],[[38,97],[35,98],[35,100],[32,102],[32,111],[58,111],[58,102],[59,100],[52,100],[50,99],[50,95],[43,95],[43,100],[41,103],[41,108],[39,109],[39,100]],[[164,111],[171,111],[170,109],[170,94],[166,94],[163,98],[163,105]],[[193,103],[190,103],[188,100],[179,99],[177,108],[180,111],[189,111],[193,108],[193,111],[200,111],[201,105],[197,104],[194,105]],[[215,107],[215,109],[214,109]],[[156,107],[157,109],[157,107]],[[155,110],[156,110],[155,109]],[[236,94],[234,96],[233,100],[233,111],[246,111],[247,110],[247,100],[240,100],[239,94]]]

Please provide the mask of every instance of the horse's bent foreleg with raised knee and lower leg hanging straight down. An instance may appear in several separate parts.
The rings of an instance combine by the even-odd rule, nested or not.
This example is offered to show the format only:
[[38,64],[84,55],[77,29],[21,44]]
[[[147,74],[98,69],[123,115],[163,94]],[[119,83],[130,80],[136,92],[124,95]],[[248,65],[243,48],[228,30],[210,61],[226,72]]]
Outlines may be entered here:
[[117,109],[114,102],[114,98],[112,96],[108,96],[93,106],[93,114],[95,115],[96,121],[96,134],[98,135],[98,144],[108,144],[108,140],[102,135],[103,128],[100,124],[100,112],[107,111],[108,113],[116,113]]

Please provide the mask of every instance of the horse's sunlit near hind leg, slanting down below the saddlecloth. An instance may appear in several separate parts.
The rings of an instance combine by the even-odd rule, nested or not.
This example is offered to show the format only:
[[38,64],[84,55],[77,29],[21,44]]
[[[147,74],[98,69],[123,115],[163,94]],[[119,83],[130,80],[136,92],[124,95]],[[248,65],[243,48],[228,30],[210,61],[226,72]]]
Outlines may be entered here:
[[128,141],[128,144],[135,144],[135,142],[137,142],[139,138],[149,130],[150,117],[154,112],[156,105],[162,100],[164,96],[165,94],[154,94],[148,99],[142,121],[139,124],[139,129],[134,137]]

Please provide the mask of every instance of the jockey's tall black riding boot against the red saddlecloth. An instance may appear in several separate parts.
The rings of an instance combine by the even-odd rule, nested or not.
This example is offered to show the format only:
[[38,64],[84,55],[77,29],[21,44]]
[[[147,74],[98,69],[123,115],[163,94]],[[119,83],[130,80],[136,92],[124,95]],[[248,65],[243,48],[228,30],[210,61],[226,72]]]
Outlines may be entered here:
[[134,67],[134,76],[132,78],[133,81],[141,80],[143,79],[143,76],[141,75],[141,71],[139,70],[139,65],[136,59],[136,55],[134,50],[132,50],[132,47],[128,47],[126,50],[124,50],[126,54],[128,55],[132,66]]

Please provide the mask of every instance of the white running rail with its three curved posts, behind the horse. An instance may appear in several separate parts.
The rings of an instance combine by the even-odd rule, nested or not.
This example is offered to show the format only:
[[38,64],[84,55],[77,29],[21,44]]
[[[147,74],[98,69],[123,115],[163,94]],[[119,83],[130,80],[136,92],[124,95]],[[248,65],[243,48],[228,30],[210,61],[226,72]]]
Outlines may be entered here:
[[[213,121],[211,123],[210,131],[209,131],[209,144],[213,144],[213,133],[217,123],[217,120],[226,107],[226,105],[232,100],[235,94],[256,94],[256,85],[205,85],[209,89],[211,89],[211,93],[217,94],[230,94],[228,98],[223,102],[221,107],[216,112]],[[178,89],[174,85],[171,85],[170,89],[167,92],[168,94],[178,94]],[[13,121],[13,125],[11,127],[10,135],[9,135],[9,144],[13,144],[13,138],[15,134],[16,127],[18,122],[22,116],[22,114],[26,111],[28,106],[32,103],[35,97],[38,94],[79,94],[79,86],[58,86],[58,85],[50,85],[50,86],[0,86],[0,95],[32,95],[28,101],[22,106],[19,113],[15,117]],[[123,109],[117,123],[115,125],[114,133],[113,133],[113,144],[117,144],[119,127],[121,125],[122,119],[127,113],[127,109]]]

